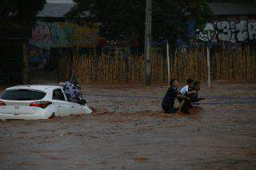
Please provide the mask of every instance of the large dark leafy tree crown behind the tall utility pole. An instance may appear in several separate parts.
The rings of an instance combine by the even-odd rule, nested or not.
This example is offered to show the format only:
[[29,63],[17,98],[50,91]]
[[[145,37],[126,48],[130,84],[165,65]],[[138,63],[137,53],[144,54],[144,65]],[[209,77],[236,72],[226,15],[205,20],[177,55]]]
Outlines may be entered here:
[[[71,21],[101,24],[102,36],[110,40],[138,38],[143,44],[146,0],[75,0],[77,6],[66,15]],[[206,0],[154,0],[154,40],[186,37],[186,22],[198,26],[213,16]]]

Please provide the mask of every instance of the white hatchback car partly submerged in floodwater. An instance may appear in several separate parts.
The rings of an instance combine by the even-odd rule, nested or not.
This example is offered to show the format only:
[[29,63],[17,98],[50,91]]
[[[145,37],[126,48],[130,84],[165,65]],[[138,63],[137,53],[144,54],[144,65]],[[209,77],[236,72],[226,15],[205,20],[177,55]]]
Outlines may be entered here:
[[37,120],[90,113],[92,110],[86,104],[67,101],[60,86],[14,86],[6,89],[0,97],[0,120]]

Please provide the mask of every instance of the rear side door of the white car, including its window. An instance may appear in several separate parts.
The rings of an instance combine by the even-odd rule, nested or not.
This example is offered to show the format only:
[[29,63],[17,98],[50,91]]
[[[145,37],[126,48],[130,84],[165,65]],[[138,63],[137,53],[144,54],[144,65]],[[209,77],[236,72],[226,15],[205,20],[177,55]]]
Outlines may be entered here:
[[53,91],[53,103],[56,107],[56,116],[66,117],[70,115],[70,102],[66,101],[66,97],[62,89],[54,89]]

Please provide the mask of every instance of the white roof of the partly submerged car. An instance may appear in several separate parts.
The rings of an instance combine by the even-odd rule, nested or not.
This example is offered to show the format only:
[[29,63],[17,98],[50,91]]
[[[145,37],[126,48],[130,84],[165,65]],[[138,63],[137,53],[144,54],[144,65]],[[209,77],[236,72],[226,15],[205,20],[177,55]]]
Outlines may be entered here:
[[59,89],[62,88],[62,86],[58,85],[16,85],[10,88],[7,88],[6,90],[11,89],[34,89],[34,90],[40,90],[40,91],[48,91],[52,89]]

